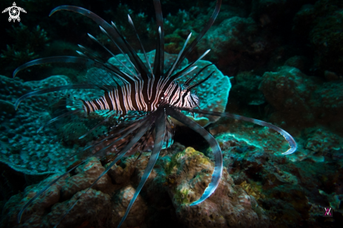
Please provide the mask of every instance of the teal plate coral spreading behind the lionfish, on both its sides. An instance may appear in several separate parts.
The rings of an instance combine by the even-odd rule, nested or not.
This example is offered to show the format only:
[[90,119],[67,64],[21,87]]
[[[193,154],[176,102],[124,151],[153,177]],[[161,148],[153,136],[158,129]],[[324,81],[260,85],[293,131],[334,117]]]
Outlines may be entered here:
[[[142,54],[140,54],[140,57],[143,59]],[[148,53],[148,57],[149,61],[153,62],[154,51]],[[120,60],[124,59],[123,55],[118,55],[117,58]],[[166,68],[170,67],[174,58],[176,58],[176,55],[166,53]],[[109,62],[119,66],[115,61],[114,58],[109,59]],[[197,70],[208,65],[208,63],[203,60],[199,61],[197,64],[199,66],[198,69],[191,74],[195,74]],[[187,65],[187,60],[184,60],[182,63],[182,66],[184,65]],[[129,65],[128,67],[130,68],[131,66]],[[224,76],[215,66],[211,66],[208,67],[206,72],[201,73],[195,82],[205,78],[213,71],[215,73],[211,79],[199,86],[197,95],[204,101],[201,102],[201,108],[223,112],[227,105],[227,97],[231,88],[227,76]],[[88,70],[86,77],[105,76],[104,74],[105,72],[103,70],[93,68]],[[47,88],[47,86],[52,85],[63,86],[71,83],[67,76],[51,76],[41,81],[29,81],[25,83],[15,79],[8,79],[4,76],[1,79],[3,82],[0,99],[4,100],[0,100],[0,105],[4,107],[4,110],[6,108],[6,112],[3,112],[3,115],[0,117],[2,119],[0,138],[1,143],[4,144],[4,147],[2,147],[1,161],[8,163],[15,170],[26,174],[36,175],[55,172],[54,170],[48,170],[48,167],[57,165],[67,156],[78,152],[80,145],[86,145],[86,142],[90,142],[92,139],[91,135],[83,140],[79,140],[79,137],[89,130],[88,126],[91,126],[92,121],[88,121],[85,125],[85,123],[69,121],[67,119],[65,123],[60,123],[58,130],[53,130],[53,128],[46,126],[40,133],[37,133],[37,130],[48,121],[48,116],[54,115],[51,110],[54,107],[53,104],[55,103],[55,106],[62,104],[63,96],[67,97],[67,93],[39,95],[34,98],[29,98],[20,104],[17,112],[15,112],[13,105],[11,105],[11,103],[15,103],[20,95],[30,90]],[[184,79],[180,79],[180,83],[183,83],[185,79],[187,79],[187,76]],[[99,92],[94,93],[93,90],[72,90],[68,92],[68,95],[70,98],[66,98],[66,104],[74,107],[74,102],[77,102],[74,98],[91,99],[102,94]],[[48,102],[45,102],[46,100]],[[193,118],[191,116],[189,117]],[[213,123],[217,119],[219,118],[216,116],[203,117],[195,114],[195,120],[203,126]],[[22,122],[25,123],[20,124]],[[100,132],[101,129],[97,130],[97,132]],[[59,142],[60,140],[62,142]],[[54,143],[46,145],[46,142],[51,141]],[[67,145],[66,149],[64,145]],[[134,153],[132,152],[131,154]],[[75,159],[68,161],[66,166],[69,166],[75,161]]]

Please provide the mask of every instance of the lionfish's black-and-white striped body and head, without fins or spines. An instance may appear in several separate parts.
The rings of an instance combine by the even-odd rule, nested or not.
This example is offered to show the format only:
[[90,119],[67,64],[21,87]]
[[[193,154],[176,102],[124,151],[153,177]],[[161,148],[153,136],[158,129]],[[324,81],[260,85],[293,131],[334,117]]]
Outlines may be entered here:
[[87,114],[97,110],[109,110],[119,112],[121,116],[125,116],[128,111],[154,112],[161,104],[186,108],[199,107],[199,98],[196,94],[182,88],[176,81],[163,78],[126,83],[106,91],[100,98],[81,102]]

